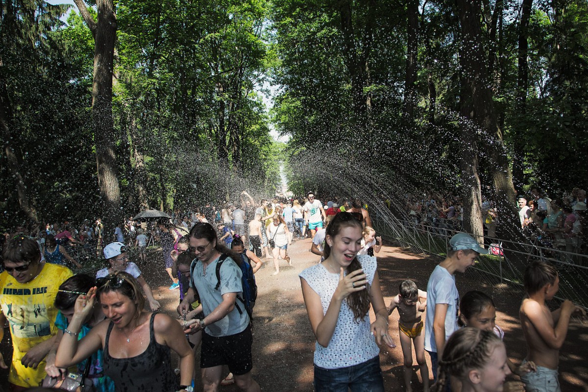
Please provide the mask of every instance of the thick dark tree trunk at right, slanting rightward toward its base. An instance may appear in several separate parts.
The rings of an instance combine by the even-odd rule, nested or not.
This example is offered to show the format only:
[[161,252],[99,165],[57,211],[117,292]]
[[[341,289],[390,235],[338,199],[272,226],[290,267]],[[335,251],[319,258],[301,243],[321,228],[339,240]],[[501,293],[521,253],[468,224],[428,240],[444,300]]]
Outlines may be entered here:
[[497,210],[502,229],[509,237],[520,239],[520,224],[515,205],[516,193],[512,173],[487,80],[486,55],[483,52],[480,28],[479,0],[456,0],[462,27],[463,72],[472,93],[473,120],[479,126],[489,164],[486,170],[492,177]]

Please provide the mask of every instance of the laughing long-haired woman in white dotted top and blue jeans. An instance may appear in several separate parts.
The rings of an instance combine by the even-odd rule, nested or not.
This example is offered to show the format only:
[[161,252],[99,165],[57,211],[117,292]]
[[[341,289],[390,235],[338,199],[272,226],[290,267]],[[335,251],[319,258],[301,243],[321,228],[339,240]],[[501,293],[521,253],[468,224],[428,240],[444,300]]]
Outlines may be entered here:
[[[379,348],[396,347],[388,334],[388,312],[376,258],[357,256],[363,225],[348,212],[326,228],[325,260],[300,273],[302,294],[316,337],[317,392],[384,390]],[[376,319],[370,324],[372,304]],[[377,344],[376,344],[377,343]]]

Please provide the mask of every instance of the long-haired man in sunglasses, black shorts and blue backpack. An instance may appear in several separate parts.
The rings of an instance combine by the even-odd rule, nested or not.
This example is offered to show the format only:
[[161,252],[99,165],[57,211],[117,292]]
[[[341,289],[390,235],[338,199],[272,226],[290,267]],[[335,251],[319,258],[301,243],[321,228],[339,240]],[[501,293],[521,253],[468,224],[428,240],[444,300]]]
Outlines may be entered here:
[[[209,223],[196,223],[189,234],[189,252],[196,256],[190,267],[190,288],[178,306],[186,314],[196,293],[202,304],[203,319],[186,320],[186,333],[202,331],[200,367],[205,391],[217,391],[222,367],[227,365],[242,391],[260,391],[251,376],[253,368],[250,319],[242,298],[242,263],[238,254],[219,242]],[[219,279],[216,271],[220,264]]]

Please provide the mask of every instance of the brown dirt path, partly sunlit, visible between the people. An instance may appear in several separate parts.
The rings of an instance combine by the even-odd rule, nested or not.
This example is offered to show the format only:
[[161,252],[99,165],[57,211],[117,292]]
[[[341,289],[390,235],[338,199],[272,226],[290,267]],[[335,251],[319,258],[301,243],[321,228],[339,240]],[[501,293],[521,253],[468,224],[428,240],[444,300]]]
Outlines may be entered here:
[[[273,260],[265,260],[265,268],[256,274],[259,296],[253,310],[253,377],[262,390],[313,391],[313,351],[315,339],[310,328],[308,316],[303,303],[298,274],[306,267],[319,261],[319,256],[309,252],[310,239],[299,240],[289,247],[292,257],[291,267],[280,260],[280,273],[273,276]],[[412,279],[420,289],[426,290],[429,274],[436,265],[429,256],[415,255],[393,246],[383,246],[376,255],[382,292],[386,304],[397,294],[397,287],[404,279]],[[176,306],[179,301],[178,290],[169,290],[169,277],[163,271],[162,262],[156,257],[148,263],[139,264],[146,280],[151,284],[156,299],[162,304],[162,311],[177,316]],[[504,287],[488,286],[474,279],[473,274],[457,275],[457,288],[463,295],[467,290],[477,289],[490,294],[497,307],[497,324],[506,333],[505,343],[509,357],[519,363],[526,353],[526,347],[520,329],[518,309],[522,293]],[[373,313],[371,315],[373,318]],[[390,316],[390,335],[397,344],[396,349],[382,347],[380,362],[387,391],[403,391],[402,350],[398,340],[397,312]],[[588,390],[588,364],[586,359],[586,341],[588,332],[584,324],[574,320],[570,324],[566,343],[561,351],[560,380],[562,391]],[[8,330],[5,330],[8,334]],[[9,339],[4,339],[2,353],[9,354]],[[430,360],[426,356],[427,362]],[[196,357],[199,364],[199,352]],[[416,360],[414,361],[416,365]],[[421,391],[418,367],[414,367],[413,390]],[[0,370],[0,386],[6,387],[8,371]],[[196,388],[202,390],[200,374],[195,374]],[[221,387],[232,392],[235,386]]]

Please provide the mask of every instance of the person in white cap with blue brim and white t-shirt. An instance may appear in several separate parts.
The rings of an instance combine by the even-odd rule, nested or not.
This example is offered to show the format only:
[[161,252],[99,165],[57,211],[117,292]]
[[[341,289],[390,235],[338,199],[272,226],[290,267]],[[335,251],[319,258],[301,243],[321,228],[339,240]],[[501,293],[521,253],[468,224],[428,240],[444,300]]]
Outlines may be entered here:
[[122,242],[109,243],[104,247],[104,258],[108,267],[96,272],[96,279],[100,279],[101,277],[105,277],[106,275],[117,271],[124,271],[137,280],[137,283],[139,283],[143,292],[145,292],[145,297],[147,297],[147,300],[149,301],[149,307],[151,307],[151,310],[155,311],[161,307],[159,302],[153,297],[151,287],[149,287],[149,284],[141,274],[141,270],[139,270],[137,264],[129,260],[125,244]]

